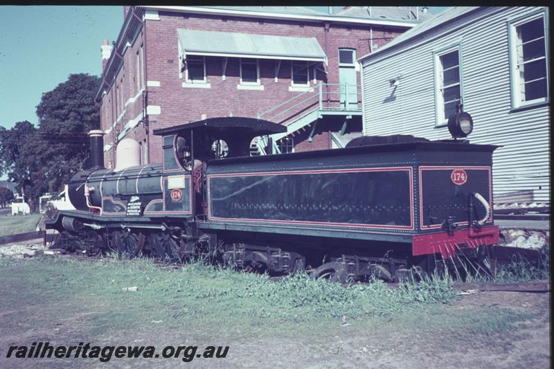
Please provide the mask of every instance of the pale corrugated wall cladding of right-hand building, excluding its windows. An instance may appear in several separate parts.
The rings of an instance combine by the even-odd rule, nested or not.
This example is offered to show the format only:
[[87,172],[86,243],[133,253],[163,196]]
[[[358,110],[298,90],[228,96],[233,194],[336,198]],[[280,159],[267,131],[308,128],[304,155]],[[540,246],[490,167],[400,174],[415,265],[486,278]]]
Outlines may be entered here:
[[[364,62],[364,134],[450,138],[446,127],[435,128],[433,52],[461,42],[470,141],[503,145],[494,153],[494,195],[533,190],[535,201],[550,201],[549,107],[510,111],[507,21],[537,9],[489,8]],[[400,74],[391,96],[388,80]]]

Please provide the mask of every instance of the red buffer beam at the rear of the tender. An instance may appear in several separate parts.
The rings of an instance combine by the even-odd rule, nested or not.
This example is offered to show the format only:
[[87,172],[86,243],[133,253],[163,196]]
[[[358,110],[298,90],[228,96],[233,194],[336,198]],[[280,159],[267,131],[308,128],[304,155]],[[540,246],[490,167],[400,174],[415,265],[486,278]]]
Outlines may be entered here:
[[479,231],[474,231],[471,227],[462,231],[454,231],[452,235],[443,231],[413,236],[412,253],[414,256],[440,253],[443,255],[443,259],[449,259],[456,255],[456,249],[460,249],[461,245],[474,249],[498,242],[499,228],[497,226],[481,227]]

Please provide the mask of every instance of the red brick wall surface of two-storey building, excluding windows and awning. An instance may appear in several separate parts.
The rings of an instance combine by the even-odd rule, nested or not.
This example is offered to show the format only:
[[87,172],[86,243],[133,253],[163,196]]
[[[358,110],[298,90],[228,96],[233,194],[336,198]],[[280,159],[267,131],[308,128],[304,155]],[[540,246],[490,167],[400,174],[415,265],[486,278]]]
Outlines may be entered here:
[[[330,28],[325,37],[325,26],[321,23],[301,23],[298,21],[282,21],[264,19],[260,22],[251,18],[227,17],[224,20],[220,16],[208,15],[184,15],[179,13],[160,12],[160,20],[147,20],[145,25],[144,42],[146,50],[147,80],[160,82],[159,87],[148,87],[148,105],[157,105],[161,107],[161,115],[150,116],[150,133],[154,129],[168,127],[187,123],[191,120],[201,119],[202,114],[209,117],[215,116],[249,116],[256,117],[256,114],[267,111],[281,102],[300,92],[289,91],[290,64],[288,61],[281,62],[278,82],[274,82],[274,61],[260,60],[260,80],[265,87],[264,91],[238,90],[240,83],[239,61],[238,58],[229,58],[226,67],[226,80],[222,80],[222,59],[217,57],[206,57],[206,75],[207,82],[211,84],[210,89],[184,88],[181,83],[183,78],[179,78],[179,55],[178,55],[178,28],[187,28],[195,30],[217,30],[234,33],[252,33],[260,35],[282,35],[292,37],[316,37],[323,51],[328,55],[328,74],[319,73],[317,82],[339,83],[338,56],[339,48],[355,48],[357,56],[365,55],[369,52],[367,39],[370,36],[369,26],[346,26],[330,24]],[[373,27],[374,44],[385,44],[388,40],[384,37],[395,37],[400,35],[402,30],[393,28]],[[139,37],[140,38],[140,37]],[[326,39],[326,40],[325,40]],[[129,78],[136,70],[133,67],[136,53],[136,44],[132,47],[132,52],[125,53],[125,69],[118,73],[116,78],[120,88],[123,89],[124,100],[134,96],[132,82]],[[129,58],[132,55],[132,60]],[[183,73],[184,74],[184,73]],[[119,82],[123,78],[123,83]],[[315,86],[312,73],[310,73],[310,85]],[[126,82],[125,82],[126,81]],[[358,72],[358,89],[360,87]],[[109,100],[113,103],[113,93],[117,85],[114,84],[110,93],[102,100],[102,120],[113,123],[114,116],[109,113]],[[316,89],[312,95],[316,94]],[[305,94],[308,96],[308,93]],[[360,100],[360,96],[359,100]],[[334,95],[338,98],[338,95]],[[106,101],[108,100],[108,101]],[[317,103],[314,98],[307,102],[314,105]],[[107,103],[106,103],[107,102]],[[127,107],[125,118],[121,119],[120,129],[136,114],[136,106]],[[307,105],[299,107],[298,115],[303,111],[310,111]],[[285,108],[278,109],[282,111]],[[106,111],[105,111],[106,110]],[[120,114],[120,111],[118,111]],[[271,114],[262,118],[270,118]],[[115,117],[117,118],[117,116]],[[279,116],[273,121],[279,122]],[[102,129],[107,129],[109,124],[102,123]],[[309,133],[309,132],[308,132]],[[303,133],[295,138],[296,151],[319,150],[330,148],[330,135],[325,132],[323,125],[319,125],[314,134],[311,143],[307,142],[308,133]],[[305,135],[306,137],[303,137]],[[127,135],[137,140],[144,138],[144,129],[140,125]],[[111,142],[109,135],[105,142]],[[157,162],[161,160],[160,139],[156,136],[150,137],[150,161]],[[109,153],[107,153],[109,156]]]

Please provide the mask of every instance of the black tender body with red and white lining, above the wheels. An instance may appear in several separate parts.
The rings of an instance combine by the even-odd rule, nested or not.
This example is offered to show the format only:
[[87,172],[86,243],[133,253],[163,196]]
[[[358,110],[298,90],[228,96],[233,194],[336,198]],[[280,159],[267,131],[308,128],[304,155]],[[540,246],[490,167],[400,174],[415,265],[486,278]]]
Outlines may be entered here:
[[[467,222],[470,192],[481,193],[492,206],[495,148],[395,143],[211,161],[206,170],[209,211],[202,227],[356,232],[383,240],[382,233],[429,232],[449,216]],[[456,169],[468,174],[463,186],[450,178]]]

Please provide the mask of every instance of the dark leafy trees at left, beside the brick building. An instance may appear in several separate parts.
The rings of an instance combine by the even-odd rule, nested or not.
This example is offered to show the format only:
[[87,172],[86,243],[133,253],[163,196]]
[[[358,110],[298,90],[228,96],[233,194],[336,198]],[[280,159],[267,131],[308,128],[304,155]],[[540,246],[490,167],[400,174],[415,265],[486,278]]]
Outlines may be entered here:
[[0,127],[0,175],[8,174],[23,189],[31,210],[44,192],[59,192],[89,152],[87,132],[100,127],[94,96],[100,78],[71,74],[66,82],[42,94],[37,105],[39,127],[28,121]]

